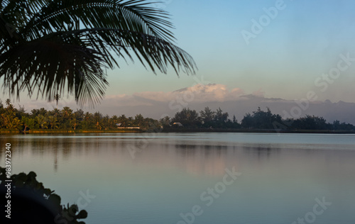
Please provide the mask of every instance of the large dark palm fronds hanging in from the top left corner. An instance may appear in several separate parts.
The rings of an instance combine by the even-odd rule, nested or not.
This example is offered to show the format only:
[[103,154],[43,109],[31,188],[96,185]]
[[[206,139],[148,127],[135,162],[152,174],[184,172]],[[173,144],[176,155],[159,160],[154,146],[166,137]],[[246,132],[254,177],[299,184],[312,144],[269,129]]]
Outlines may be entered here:
[[16,95],[38,89],[51,101],[68,92],[97,103],[108,85],[105,68],[133,56],[153,72],[195,73],[176,46],[169,15],[146,0],[0,1],[0,78]]

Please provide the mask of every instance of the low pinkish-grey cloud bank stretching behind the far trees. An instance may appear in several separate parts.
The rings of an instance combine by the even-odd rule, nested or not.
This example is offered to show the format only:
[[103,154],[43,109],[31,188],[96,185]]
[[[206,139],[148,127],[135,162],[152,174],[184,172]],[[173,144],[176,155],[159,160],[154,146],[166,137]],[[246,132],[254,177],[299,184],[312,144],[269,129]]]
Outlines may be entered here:
[[[125,114],[135,116],[141,113],[145,117],[158,119],[161,116],[174,116],[179,109],[189,107],[196,111],[201,111],[209,106],[212,110],[222,108],[229,113],[231,118],[236,115],[241,121],[246,113],[256,111],[258,106],[263,110],[271,108],[273,113],[278,113],[284,117],[285,111],[290,113],[293,107],[298,106],[300,101],[286,100],[280,98],[266,98],[265,92],[261,89],[252,94],[245,94],[243,89],[228,89],[223,84],[197,84],[176,91],[144,91],[131,95],[121,94],[106,96],[101,103],[92,108],[82,108],[84,111],[94,113],[96,111],[109,116]],[[16,103],[14,103],[16,105]],[[56,108],[55,102],[28,100],[26,103],[18,103],[25,106],[28,112],[33,108],[44,107],[48,110]],[[173,106],[172,106],[173,105]],[[60,99],[58,108],[70,106],[73,110],[79,108],[72,99]],[[345,103],[339,101],[315,101],[310,102],[306,110],[302,110],[302,115],[323,116],[327,121],[345,121],[355,124],[355,103]]]

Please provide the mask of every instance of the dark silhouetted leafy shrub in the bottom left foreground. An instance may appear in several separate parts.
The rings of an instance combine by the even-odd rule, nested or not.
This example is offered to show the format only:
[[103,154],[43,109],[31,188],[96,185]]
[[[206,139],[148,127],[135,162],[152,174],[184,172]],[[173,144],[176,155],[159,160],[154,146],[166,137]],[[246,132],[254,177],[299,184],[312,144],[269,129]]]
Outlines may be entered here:
[[[62,205],[60,196],[38,182],[35,172],[22,172],[8,177],[7,171],[9,168],[0,167],[0,193],[4,198],[6,195],[11,203],[1,200],[0,205],[11,213],[5,212],[10,218],[1,215],[1,223],[85,224],[79,219],[87,218],[87,211],[80,211],[76,204]],[[8,179],[11,182],[6,182]],[[7,193],[9,190],[11,194]]]

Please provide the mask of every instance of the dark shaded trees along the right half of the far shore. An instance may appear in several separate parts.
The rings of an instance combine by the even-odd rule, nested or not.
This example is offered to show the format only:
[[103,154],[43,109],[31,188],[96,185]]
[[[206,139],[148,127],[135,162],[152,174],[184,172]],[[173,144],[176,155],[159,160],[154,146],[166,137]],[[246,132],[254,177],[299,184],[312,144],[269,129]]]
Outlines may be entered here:
[[[163,125],[168,126],[168,118],[165,118]],[[253,130],[355,130],[355,126],[350,123],[340,123],[334,121],[328,123],[319,116],[306,115],[301,118],[285,118],[279,114],[271,113],[270,108],[266,111],[260,107],[252,113],[246,113],[239,123],[234,115],[231,119],[229,114],[223,112],[221,108],[212,111],[209,107],[198,113],[190,108],[183,108],[182,111],[171,118],[175,126],[183,125],[187,128],[231,128],[231,129],[253,129]]]

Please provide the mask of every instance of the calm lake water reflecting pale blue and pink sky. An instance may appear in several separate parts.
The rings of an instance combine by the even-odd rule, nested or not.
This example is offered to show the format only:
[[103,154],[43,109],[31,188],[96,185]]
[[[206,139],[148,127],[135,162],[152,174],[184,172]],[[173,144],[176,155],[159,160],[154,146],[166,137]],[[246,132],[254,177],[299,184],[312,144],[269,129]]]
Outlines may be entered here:
[[[62,203],[89,193],[80,201],[87,224],[355,223],[355,135],[1,135],[0,142],[1,166],[10,142],[13,173],[35,171]],[[226,172],[233,169],[236,179]]]

